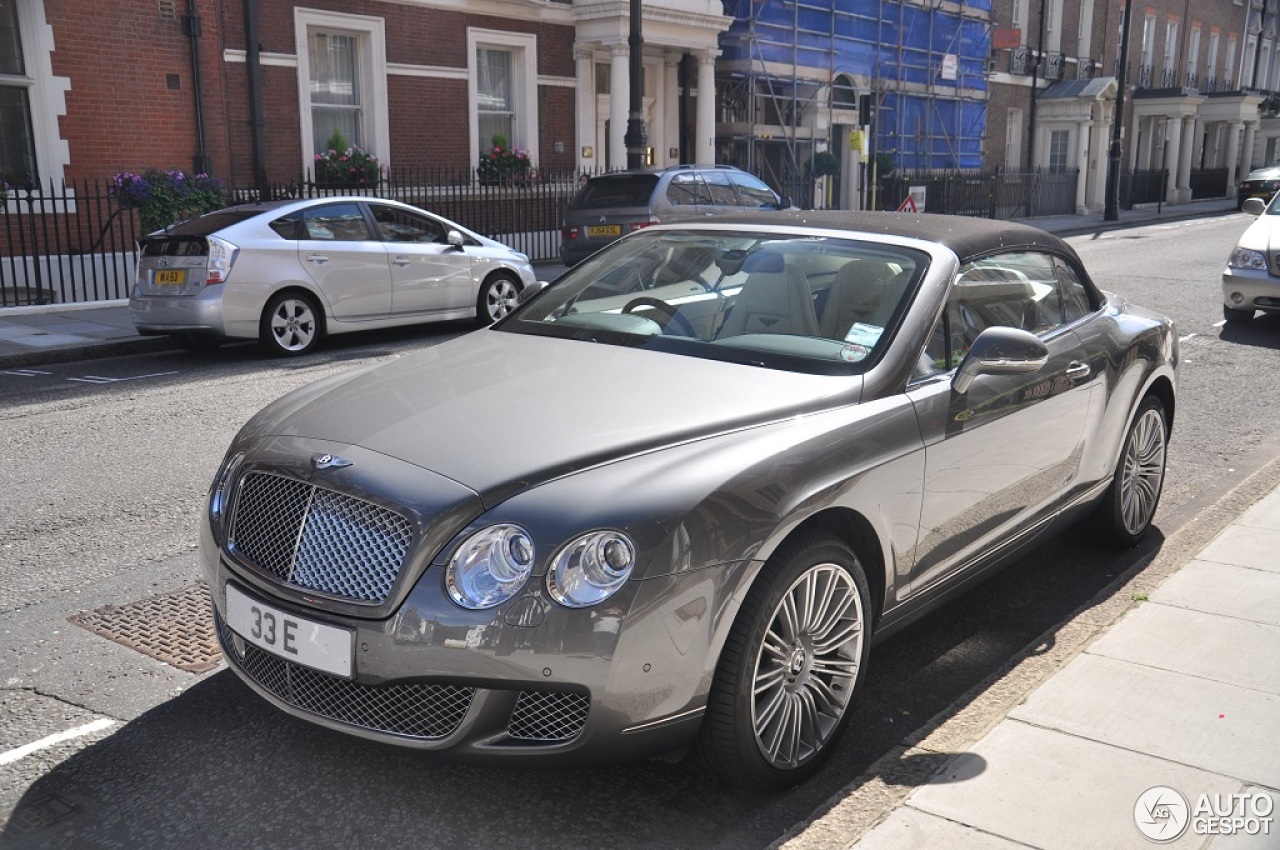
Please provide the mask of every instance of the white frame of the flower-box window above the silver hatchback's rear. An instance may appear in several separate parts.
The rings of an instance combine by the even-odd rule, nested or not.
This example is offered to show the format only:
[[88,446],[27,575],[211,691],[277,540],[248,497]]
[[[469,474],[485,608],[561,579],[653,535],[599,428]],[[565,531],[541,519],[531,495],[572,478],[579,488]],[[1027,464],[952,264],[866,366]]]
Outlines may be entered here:
[[360,102],[365,151],[388,165],[392,155],[390,124],[387,118],[387,22],[370,15],[352,15],[319,9],[293,10],[293,42],[298,56],[298,131],[302,136],[302,168],[315,170],[315,138],[311,129],[311,49],[310,29],[356,36]]

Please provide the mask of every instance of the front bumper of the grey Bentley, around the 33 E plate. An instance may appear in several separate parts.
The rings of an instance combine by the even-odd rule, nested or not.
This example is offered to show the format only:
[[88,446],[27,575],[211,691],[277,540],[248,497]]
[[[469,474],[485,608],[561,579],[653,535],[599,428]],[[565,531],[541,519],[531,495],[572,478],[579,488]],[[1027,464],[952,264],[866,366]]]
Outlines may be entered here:
[[[463,611],[433,566],[392,617],[371,621],[292,604],[220,554],[205,565],[228,663],[289,714],[458,758],[570,763],[646,758],[691,742],[712,648],[730,625],[718,612],[732,608],[730,594],[756,566],[635,581],[611,599],[627,612],[612,635],[593,629],[590,609],[547,602],[538,579],[506,605]],[[224,620],[228,582],[298,617],[351,630],[352,678],[283,661],[234,635]]]

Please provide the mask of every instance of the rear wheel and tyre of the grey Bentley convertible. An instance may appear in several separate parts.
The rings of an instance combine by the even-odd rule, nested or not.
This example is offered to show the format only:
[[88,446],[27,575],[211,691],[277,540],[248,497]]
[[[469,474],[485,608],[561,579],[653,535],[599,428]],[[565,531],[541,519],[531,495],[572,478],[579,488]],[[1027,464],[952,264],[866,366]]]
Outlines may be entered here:
[[1098,504],[1097,531],[1105,543],[1134,547],[1151,527],[1165,484],[1167,447],[1165,406],[1147,396],[1125,434],[1111,486]]

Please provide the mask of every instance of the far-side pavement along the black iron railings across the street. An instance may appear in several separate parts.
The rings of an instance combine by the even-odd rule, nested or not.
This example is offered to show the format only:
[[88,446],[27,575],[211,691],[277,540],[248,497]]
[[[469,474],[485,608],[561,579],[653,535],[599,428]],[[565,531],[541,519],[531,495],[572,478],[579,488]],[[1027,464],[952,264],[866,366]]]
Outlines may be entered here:
[[[1097,212],[1028,219],[1028,224],[1061,236],[1080,236],[1210,215],[1236,215],[1235,202],[1219,198],[1149,210],[1123,210],[1120,221],[1103,221],[1102,214]],[[547,275],[544,279],[563,271],[558,264],[535,265],[539,277]],[[0,307],[0,370],[174,348],[166,337],[140,337],[133,330],[125,301]]]

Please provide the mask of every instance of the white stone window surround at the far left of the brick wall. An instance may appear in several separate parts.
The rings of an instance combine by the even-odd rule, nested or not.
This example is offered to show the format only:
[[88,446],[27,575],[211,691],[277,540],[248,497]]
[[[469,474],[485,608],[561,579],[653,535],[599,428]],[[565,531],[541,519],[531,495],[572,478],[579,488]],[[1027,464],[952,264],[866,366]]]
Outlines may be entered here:
[[[18,37],[26,74],[0,77],[5,86],[26,87],[31,110],[31,134],[36,146],[36,173],[41,186],[67,179],[72,163],[70,145],[63,138],[58,119],[67,114],[67,92],[72,81],[54,77],[54,28],[45,18],[42,0],[18,0]],[[17,209],[13,196],[9,209]]]

